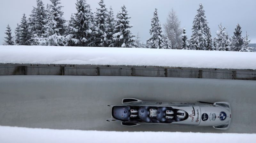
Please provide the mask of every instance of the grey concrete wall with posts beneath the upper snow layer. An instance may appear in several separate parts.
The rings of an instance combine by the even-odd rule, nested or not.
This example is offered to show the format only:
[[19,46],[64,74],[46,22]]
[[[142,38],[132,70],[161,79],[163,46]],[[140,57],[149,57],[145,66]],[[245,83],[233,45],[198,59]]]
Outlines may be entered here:
[[141,76],[256,80],[255,70],[112,65],[0,64],[0,75]]

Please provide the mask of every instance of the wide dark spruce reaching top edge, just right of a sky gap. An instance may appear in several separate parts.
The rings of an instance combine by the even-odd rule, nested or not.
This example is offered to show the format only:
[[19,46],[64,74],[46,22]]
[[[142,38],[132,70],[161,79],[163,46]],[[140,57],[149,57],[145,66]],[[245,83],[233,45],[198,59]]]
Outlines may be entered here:
[[[93,46],[94,17],[91,6],[86,0],[76,0],[76,10],[73,24],[69,28],[73,29],[73,42],[78,43],[77,46]],[[71,18],[72,19],[72,18]]]

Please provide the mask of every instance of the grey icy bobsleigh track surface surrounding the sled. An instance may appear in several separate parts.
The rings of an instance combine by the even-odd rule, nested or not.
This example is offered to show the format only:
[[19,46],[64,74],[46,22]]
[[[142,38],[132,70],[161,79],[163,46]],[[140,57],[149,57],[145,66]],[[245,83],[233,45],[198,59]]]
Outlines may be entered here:
[[[228,130],[107,122],[123,98],[230,103]],[[256,133],[256,81],[106,76],[0,76],[0,125],[99,131]]]

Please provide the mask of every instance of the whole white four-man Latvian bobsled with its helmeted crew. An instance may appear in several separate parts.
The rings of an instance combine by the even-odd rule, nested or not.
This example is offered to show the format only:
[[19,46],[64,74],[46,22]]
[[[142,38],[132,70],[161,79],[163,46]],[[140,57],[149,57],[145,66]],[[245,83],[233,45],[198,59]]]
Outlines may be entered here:
[[122,104],[108,106],[112,113],[107,121],[121,122],[124,126],[179,124],[226,130],[231,120],[228,102],[149,102],[126,98]]

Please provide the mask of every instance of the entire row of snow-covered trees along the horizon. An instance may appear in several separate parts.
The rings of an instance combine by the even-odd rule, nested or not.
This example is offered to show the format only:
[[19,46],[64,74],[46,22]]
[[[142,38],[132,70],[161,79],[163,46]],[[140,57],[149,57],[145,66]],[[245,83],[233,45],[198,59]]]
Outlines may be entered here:
[[164,24],[164,33],[155,9],[151,19],[151,38],[144,44],[139,34],[135,36],[131,32],[133,26],[125,5],[115,16],[111,6],[106,8],[104,0],[100,0],[95,13],[86,0],[76,0],[77,12],[67,21],[63,18],[60,0],[50,1],[51,4],[45,7],[42,0],[36,0],[37,5],[33,7],[29,18],[23,14],[20,24],[17,24],[15,37],[12,37],[8,25],[4,45],[253,51],[249,46],[249,35],[246,32],[246,36],[242,37],[239,24],[232,37],[225,31],[226,27],[220,24],[216,36],[212,38],[202,4],[199,4],[194,18],[190,39],[186,29],[180,28],[180,21],[173,9]]

